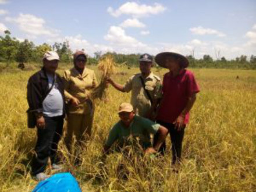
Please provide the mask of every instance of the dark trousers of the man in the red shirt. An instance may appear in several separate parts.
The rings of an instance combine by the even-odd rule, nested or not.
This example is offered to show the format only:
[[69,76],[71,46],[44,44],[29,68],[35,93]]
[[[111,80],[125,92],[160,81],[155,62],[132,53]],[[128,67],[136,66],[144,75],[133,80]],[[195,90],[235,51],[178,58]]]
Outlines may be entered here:
[[[166,127],[170,133],[170,141],[172,142],[172,164],[175,164],[176,161],[180,162],[180,159],[182,157],[182,141],[184,137],[184,127],[180,131],[177,131],[175,129],[175,125],[173,123],[165,123],[162,121],[157,121],[160,125]],[[154,136],[154,143],[153,145],[155,146],[155,143],[158,139],[158,133],[155,134]],[[159,148],[159,152],[164,155],[166,150],[166,144],[165,141],[162,143],[161,147]]]

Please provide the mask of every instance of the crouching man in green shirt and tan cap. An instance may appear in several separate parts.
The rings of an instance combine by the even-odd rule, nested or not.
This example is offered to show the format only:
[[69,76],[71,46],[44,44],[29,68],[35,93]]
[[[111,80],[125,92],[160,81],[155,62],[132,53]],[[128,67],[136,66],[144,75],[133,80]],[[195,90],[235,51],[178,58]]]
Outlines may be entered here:
[[[119,106],[118,115],[120,120],[110,130],[104,145],[104,152],[108,152],[116,140],[118,140],[119,147],[122,148],[124,145],[132,144],[133,142],[130,141],[136,138],[139,138],[139,144],[146,154],[158,151],[168,134],[168,130],[165,127],[135,115],[133,106],[129,103],[122,103]],[[153,148],[150,142],[150,134],[156,133],[158,133],[158,138]]]

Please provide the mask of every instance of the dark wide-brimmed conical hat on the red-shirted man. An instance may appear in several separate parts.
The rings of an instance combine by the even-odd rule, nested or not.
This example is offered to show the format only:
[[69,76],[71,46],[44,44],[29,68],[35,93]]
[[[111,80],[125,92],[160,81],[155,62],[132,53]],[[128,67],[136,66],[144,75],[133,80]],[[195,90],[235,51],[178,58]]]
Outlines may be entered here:
[[161,66],[161,67],[166,67],[166,57],[167,56],[173,56],[174,58],[179,58],[180,59],[180,66],[183,68],[186,68],[187,66],[189,66],[189,60],[187,60],[187,58],[183,55],[177,54],[175,52],[161,52],[160,54],[157,54],[157,56],[155,56],[155,62]]

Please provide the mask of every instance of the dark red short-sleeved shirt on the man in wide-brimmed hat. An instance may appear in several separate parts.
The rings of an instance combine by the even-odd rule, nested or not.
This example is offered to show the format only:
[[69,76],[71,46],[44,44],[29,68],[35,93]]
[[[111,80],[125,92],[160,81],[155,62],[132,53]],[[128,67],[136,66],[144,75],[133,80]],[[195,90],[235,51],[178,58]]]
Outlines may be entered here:
[[[186,107],[189,97],[198,93],[199,87],[194,74],[182,69],[176,77],[168,72],[163,77],[163,97],[159,106],[157,120],[173,123]],[[186,114],[184,124],[189,122],[189,113]]]

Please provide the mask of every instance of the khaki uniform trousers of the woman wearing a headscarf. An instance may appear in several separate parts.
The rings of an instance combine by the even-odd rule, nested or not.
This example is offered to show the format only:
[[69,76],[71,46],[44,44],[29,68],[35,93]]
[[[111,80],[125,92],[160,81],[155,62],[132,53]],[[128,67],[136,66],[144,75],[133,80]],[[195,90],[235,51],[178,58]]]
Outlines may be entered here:
[[69,113],[66,118],[65,142],[67,149],[72,146],[73,136],[77,144],[88,141],[91,137],[91,127],[93,126],[93,115]]

